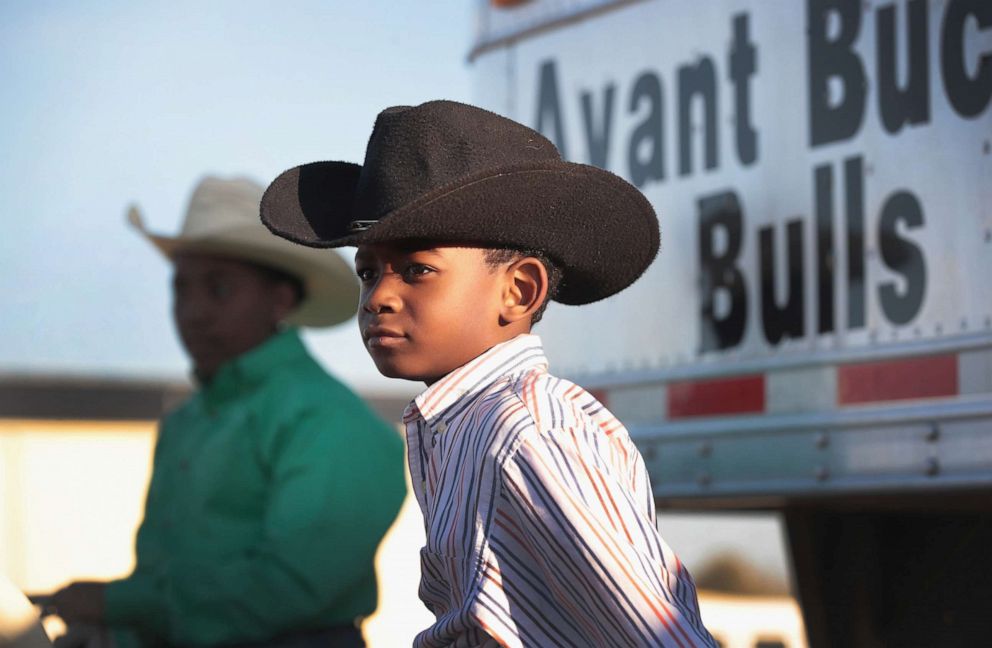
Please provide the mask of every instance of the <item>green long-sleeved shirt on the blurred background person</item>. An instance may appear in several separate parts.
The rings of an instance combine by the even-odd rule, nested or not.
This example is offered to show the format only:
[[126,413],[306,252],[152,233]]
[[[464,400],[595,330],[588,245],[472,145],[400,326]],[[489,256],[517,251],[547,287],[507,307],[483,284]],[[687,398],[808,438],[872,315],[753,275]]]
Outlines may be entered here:
[[293,329],[224,365],[162,422],[119,642],[216,645],[352,623],[405,495],[403,442]]

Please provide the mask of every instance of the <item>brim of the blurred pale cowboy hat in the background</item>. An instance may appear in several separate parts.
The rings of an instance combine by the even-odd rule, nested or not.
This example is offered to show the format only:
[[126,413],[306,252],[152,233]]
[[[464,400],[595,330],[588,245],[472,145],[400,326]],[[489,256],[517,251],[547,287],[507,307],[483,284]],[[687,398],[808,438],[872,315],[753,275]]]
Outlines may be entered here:
[[[263,230],[264,231],[264,230]],[[322,328],[348,320],[358,304],[355,273],[340,255],[330,250],[300,248],[272,237],[259,240],[257,230],[229,230],[223,236],[189,238],[142,234],[170,260],[184,253],[210,254],[275,268],[298,277],[306,296],[286,318],[297,326]]]

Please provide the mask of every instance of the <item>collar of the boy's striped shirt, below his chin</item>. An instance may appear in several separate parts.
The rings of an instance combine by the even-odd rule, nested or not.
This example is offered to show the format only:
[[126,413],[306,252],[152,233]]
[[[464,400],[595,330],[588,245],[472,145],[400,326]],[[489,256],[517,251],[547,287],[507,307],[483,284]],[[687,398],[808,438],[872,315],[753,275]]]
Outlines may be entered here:
[[431,422],[461,399],[485,390],[504,376],[547,368],[541,338],[529,333],[518,335],[490,348],[428,387],[406,408],[403,421],[409,422],[419,415]]

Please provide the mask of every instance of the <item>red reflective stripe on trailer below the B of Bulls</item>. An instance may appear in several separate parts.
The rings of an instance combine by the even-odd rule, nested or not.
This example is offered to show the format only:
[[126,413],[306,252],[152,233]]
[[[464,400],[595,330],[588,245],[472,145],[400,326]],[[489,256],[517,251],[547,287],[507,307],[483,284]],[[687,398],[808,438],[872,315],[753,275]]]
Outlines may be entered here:
[[765,411],[765,377],[685,380],[667,386],[668,418]]

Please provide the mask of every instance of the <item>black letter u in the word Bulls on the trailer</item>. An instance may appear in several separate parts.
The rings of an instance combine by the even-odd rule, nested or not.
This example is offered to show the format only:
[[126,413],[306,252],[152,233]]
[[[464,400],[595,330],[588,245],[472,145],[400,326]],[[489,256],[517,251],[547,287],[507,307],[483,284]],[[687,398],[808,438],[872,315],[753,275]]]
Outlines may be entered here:
[[789,291],[784,306],[775,299],[775,229],[758,230],[761,246],[761,327],[765,339],[778,344],[783,337],[803,336],[803,222],[786,223],[786,253],[788,256]]

